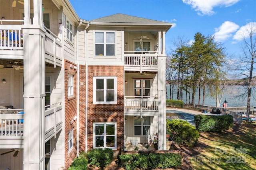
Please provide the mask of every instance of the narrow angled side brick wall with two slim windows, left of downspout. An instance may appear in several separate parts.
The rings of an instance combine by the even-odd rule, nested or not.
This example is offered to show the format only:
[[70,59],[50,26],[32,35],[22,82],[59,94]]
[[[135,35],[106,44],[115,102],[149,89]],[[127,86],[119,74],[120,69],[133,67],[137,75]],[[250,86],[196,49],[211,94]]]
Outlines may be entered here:
[[[70,61],[65,60],[65,170],[69,168],[70,164],[73,162],[74,158],[76,158],[76,121],[74,121],[74,117],[77,115],[77,73],[74,69],[76,64],[71,63]],[[72,68],[70,67],[72,64]],[[68,74],[74,75],[74,96],[68,98]],[[71,124],[70,121],[73,120]],[[71,125],[70,125],[71,124]],[[73,137],[73,149],[68,153],[68,132],[71,129],[74,129],[74,137]]]

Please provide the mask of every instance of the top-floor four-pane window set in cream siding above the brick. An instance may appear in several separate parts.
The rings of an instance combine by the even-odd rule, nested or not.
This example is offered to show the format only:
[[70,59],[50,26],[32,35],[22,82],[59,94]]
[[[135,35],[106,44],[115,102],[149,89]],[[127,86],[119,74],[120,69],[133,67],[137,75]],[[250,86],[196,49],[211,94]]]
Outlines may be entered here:
[[115,33],[107,31],[95,32],[95,55],[115,55]]

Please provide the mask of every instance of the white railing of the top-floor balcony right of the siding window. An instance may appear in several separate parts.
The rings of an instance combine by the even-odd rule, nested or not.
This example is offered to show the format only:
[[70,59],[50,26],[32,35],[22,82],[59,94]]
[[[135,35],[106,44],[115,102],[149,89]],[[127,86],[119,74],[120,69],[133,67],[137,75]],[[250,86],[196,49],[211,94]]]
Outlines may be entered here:
[[158,71],[158,55],[148,51],[147,54],[135,54],[138,52],[126,51],[124,54],[125,71]]

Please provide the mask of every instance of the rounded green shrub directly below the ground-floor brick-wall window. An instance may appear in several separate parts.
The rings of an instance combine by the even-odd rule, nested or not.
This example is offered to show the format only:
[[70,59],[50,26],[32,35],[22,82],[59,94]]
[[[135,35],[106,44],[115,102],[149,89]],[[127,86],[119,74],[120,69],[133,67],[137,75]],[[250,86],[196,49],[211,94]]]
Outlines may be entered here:
[[106,167],[113,160],[114,152],[112,149],[92,149],[86,154],[90,166]]

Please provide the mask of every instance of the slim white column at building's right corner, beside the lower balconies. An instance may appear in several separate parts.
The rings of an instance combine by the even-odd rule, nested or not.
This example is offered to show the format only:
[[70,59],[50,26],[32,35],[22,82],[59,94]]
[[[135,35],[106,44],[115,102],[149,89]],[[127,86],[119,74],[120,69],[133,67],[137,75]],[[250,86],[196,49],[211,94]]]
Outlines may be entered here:
[[158,55],[158,150],[166,150],[166,55]]

